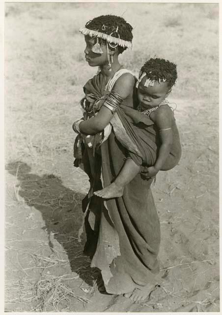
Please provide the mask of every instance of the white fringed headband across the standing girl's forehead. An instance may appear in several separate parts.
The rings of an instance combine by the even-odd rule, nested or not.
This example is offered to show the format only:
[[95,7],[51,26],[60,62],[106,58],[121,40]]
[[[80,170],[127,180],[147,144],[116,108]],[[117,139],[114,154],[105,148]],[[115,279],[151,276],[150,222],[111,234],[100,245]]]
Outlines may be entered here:
[[[115,44],[116,46],[121,46],[124,48],[126,47],[129,49],[132,49],[132,43],[130,41],[123,40],[120,38],[119,33],[118,33],[118,27],[117,27],[116,31],[111,32],[110,35],[108,35],[106,33],[98,32],[98,31],[90,30],[90,29],[87,29],[86,27],[84,27],[83,29],[80,29],[80,32],[83,35],[88,35],[90,37],[97,37],[97,38],[105,39],[108,43]],[[117,33],[118,38],[111,36],[113,33]],[[111,46],[111,47],[115,48],[114,46]]]

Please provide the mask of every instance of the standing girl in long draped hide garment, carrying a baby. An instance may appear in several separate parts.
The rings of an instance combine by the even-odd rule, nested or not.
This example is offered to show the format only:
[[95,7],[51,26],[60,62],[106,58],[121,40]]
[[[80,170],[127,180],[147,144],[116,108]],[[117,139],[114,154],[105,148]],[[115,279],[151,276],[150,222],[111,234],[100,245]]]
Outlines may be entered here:
[[[83,199],[84,252],[92,258],[91,266],[101,270],[100,291],[125,294],[139,302],[159,283],[160,224],[150,190],[152,179],[144,181],[137,174],[119,198],[105,201],[93,193],[117,177],[128,152],[138,165],[141,152],[150,159],[149,165],[154,163],[156,132],[150,118],[133,108],[136,78],[118,61],[118,55],[131,48],[132,27],[123,18],[107,15],[89,21],[81,32],[86,62],[100,66],[100,72],[83,87],[83,120],[74,123],[79,132],[75,165],[84,169],[90,181]],[[149,145],[143,146],[142,138]]]

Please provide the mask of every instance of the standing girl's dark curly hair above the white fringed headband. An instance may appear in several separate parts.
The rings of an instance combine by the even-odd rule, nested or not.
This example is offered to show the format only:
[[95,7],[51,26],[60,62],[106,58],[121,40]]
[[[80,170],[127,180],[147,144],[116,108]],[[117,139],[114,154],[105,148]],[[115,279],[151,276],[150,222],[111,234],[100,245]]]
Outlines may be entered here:
[[[132,42],[133,39],[132,26],[120,16],[101,15],[87,22],[85,27],[89,30],[102,32],[108,35],[112,33],[112,37],[118,38],[119,34],[120,38],[126,41]],[[118,32],[116,32],[116,29]],[[103,41],[104,40],[100,39],[100,42]],[[118,46],[118,53],[121,54],[125,49],[126,47]]]

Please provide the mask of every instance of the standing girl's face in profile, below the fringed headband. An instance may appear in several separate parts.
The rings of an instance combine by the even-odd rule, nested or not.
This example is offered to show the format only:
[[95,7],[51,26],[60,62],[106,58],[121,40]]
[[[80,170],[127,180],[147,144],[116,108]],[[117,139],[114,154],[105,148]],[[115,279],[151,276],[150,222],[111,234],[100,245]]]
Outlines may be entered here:
[[95,45],[95,37],[85,36],[86,47],[84,50],[85,60],[91,67],[103,65],[107,63],[107,47],[106,45],[101,44],[103,54],[93,53],[92,47]]

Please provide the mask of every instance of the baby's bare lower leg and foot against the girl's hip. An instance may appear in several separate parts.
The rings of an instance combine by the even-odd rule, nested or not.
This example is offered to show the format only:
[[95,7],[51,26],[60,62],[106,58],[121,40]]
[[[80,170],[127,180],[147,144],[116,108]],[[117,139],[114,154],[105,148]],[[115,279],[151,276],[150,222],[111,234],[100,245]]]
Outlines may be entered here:
[[127,158],[115,181],[104,189],[95,191],[94,194],[106,199],[121,197],[125,185],[130,183],[139,171],[140,166],[132,158]]

